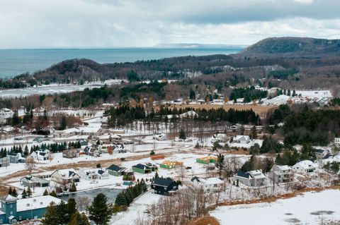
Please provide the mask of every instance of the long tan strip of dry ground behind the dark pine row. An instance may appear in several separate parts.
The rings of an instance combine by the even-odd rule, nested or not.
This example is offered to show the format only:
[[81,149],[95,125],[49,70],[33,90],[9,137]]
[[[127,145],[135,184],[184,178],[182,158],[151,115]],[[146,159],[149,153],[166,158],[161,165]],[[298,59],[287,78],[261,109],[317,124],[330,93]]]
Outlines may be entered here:
[[276,106],[261,106],[261,105],[238,105],[238,104],[225,104],[225,105],[218,105],[218,104],[172,104],[170,106],[171,108],[194,108],[194,109],[220,109],[221,107],[225,110],[229,109],[237,109],[237,110],[249,110],[253,109],[253,111],[256,112],[256,114],[259,114],[260,116],[263,114],[267,114],[268,111],[271,111],[272,109],[276,109],[278,107]]

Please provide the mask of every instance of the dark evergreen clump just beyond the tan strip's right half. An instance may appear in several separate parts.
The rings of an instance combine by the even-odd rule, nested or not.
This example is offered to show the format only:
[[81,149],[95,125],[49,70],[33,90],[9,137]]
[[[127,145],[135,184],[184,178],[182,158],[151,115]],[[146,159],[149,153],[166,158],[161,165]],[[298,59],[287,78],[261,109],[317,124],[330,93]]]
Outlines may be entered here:
[[263,99],[267,97],[266,90],[256,90],[254,86],[247,88],[234,88],[230,94],[229,99],[236,102],[237,99],[243,98],[243,102],[251,102],[256,99]]

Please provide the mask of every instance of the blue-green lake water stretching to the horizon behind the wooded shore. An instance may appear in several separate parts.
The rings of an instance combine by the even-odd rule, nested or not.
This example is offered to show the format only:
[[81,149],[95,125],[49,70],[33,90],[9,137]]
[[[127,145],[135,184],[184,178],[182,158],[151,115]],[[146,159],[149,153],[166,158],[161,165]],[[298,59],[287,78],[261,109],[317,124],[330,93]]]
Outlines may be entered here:
[[92,59],[98,63],[134,62],[174,56],[234,54],[240,47],[222,48],[117,48],[117,49],[0,49],[0,78],[33,73],[67,59]]

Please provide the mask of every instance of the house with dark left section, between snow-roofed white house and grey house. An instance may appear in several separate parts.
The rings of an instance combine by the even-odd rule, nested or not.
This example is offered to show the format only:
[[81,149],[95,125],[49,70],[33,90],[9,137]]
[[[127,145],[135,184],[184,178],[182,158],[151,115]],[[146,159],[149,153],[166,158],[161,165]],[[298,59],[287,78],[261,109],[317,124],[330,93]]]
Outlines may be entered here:
[[261,170],[254,171],[238,171],[237,174],[234,174],[234,181],[239,181],[243,183],[245,186],[249,187],[259,187],[263,186],[266,181],[266,176],[262,174]]

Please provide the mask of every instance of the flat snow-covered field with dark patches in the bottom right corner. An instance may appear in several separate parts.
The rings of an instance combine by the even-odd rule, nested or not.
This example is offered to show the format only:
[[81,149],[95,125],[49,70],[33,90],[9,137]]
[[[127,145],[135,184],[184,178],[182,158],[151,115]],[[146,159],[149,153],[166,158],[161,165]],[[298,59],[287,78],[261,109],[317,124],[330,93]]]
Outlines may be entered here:
[[324,190],[271,203],[217,207],[210,214],[221,225],[317,225],[322,219],[340,220],[340,191]]

